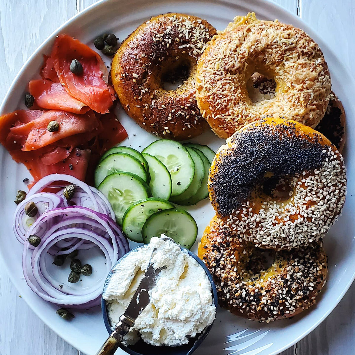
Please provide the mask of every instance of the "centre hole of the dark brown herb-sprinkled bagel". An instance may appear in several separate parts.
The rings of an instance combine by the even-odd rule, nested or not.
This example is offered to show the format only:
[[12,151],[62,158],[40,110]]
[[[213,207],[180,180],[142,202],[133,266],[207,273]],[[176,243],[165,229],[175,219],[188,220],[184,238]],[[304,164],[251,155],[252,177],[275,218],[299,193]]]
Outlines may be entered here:
[[[177,58],[177,57],[176,57]],[[161,85],[164,90],[177,90],[190,76],[190,64],[184,58],[163,63],[161,69]]]

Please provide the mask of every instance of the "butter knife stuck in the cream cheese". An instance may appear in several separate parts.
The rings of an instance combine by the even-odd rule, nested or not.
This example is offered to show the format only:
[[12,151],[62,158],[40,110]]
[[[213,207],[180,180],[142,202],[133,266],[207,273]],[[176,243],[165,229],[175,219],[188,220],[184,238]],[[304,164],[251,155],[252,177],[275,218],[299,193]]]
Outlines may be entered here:
[[[153,250],[152,255],[155,251],[156,249]],[[119,322],[115,325],[113,332],[96,355],[113,355],[115,353],[120,343],[122,343],[123,337],[129,332],[129,329],[134,326],[135,320],[149,304],[148,292],[155,286],[156,279],[161,269],[162,268],[154,269],[150,258],[148,267],[127,309],[123,315],[120,316]]]

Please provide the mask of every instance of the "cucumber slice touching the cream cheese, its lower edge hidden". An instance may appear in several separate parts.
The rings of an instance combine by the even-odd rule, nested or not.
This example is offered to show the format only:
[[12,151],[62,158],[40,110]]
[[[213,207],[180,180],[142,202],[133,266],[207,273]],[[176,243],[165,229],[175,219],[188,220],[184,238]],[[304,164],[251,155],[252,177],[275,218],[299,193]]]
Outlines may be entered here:
[[159,237],[161,234],[190,249],[196,241],[197,224],[192,215],[182,209],[166,209],[152,214],[142,228],[145,244],[149,243],[152,237]]

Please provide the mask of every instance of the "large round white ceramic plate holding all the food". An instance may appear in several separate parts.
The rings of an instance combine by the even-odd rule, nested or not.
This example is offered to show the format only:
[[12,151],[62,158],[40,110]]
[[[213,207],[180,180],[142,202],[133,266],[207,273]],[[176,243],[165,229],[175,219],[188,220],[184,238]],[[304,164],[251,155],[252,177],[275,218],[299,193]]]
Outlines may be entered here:
[[[285,23],[292,23],[303,28],[321,46],[332,75],[334,92],[339,96],[347,115],[347,139],[345,151],[355,151],[355,113],[351,100],[355,96],[355,86],[349,71],[337,59],[327,44],[318,37],[298,17],[291,15],[280,7],[266,1],[197,1],[197,0],[107,0],[101,1],[81,12],[55,33],[53,33],[29,58],[15,78],[1,106],[1,114],[17,108],[25,108],[23,94],[29,80],[38,76],[42,65],[42,54],[50,53],[55,35],[68,33],[84,43],[92,44],[93,39],[101,33],[110,31],[121,39],[125,38],[139,24],[150,16],[165,12],[184,12],[197,15],[208,20],[217,29],[224,29],[236,15],[244,15],[255,11],[259,18],[274,20],[278,18]],[[109,63],[108,63],[109,64]],[[129,139],[123,144],[142,149],[154,141],[154,136],[138,127],[120,110],[119,119],[129,133]],[[135,134],[135,136],[134,136]],[[217,149],[222,143],[213,134],[205,134],[194,141],[209,144]],[[0,215],[1,215],[1,256],[5,265],[11,265],[9,275],[21,296],[34,312],[70,344],[83,353],[93,355],[107,337],[101,311],[99,308],[85,313],[76,313],[71,322],[62,320],[55,314],[58,308],[44,302],[27,286],[21,267],[20,245],[12,232],[12,214],[15,210],[13,202],[17,189],[25,189],[23,178],[30,178],[24,166],[12,161],[10,154],[0,148]],[[346,159],[348,177],[354,176],[355,158]],[[225,355],[273,355],[288,348],[305,337],[321,323],[338,304],[354,279],[355,271],[355,241],[354,241],[354,181],[348,183],[348,197],[343,215],[338,223],[326,236],[325,247],[329,254],[328,282],[318,297],[317,305],[302,315],[270,324],[260,324],[246,321],[241,317],[230,315],[219,309],[217,319],[208,338],[196,351],[196,354],[225,354]],[[200,202],[188,209],[198,222],[199,237],[205,226],[213,217],[213,208],[208,201]],[[194,251],[197,249],[197,244]],[[60,277],[60,276],[58,276]],[[63,276],[65,281],[67,273]],[[106,277],[106,275],[104,275]],[[48,339],[47,341],[50,341]],[[123,353],[122,351],[120,353]]]

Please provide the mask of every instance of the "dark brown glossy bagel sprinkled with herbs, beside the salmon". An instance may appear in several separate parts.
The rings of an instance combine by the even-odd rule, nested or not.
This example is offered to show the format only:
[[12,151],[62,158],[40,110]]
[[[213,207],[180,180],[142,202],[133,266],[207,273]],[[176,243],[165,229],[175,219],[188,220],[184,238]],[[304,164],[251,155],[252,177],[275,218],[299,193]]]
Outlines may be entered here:
[[[146,131],[180,141],[208,127],[195,99],[195,73],[215,33],[199,17],[167,13],[144,22],[124,40],[112,61],[112,83],[122,107]],[[163,82],[183,70],[188,72],[183,84],[166,90]]]

